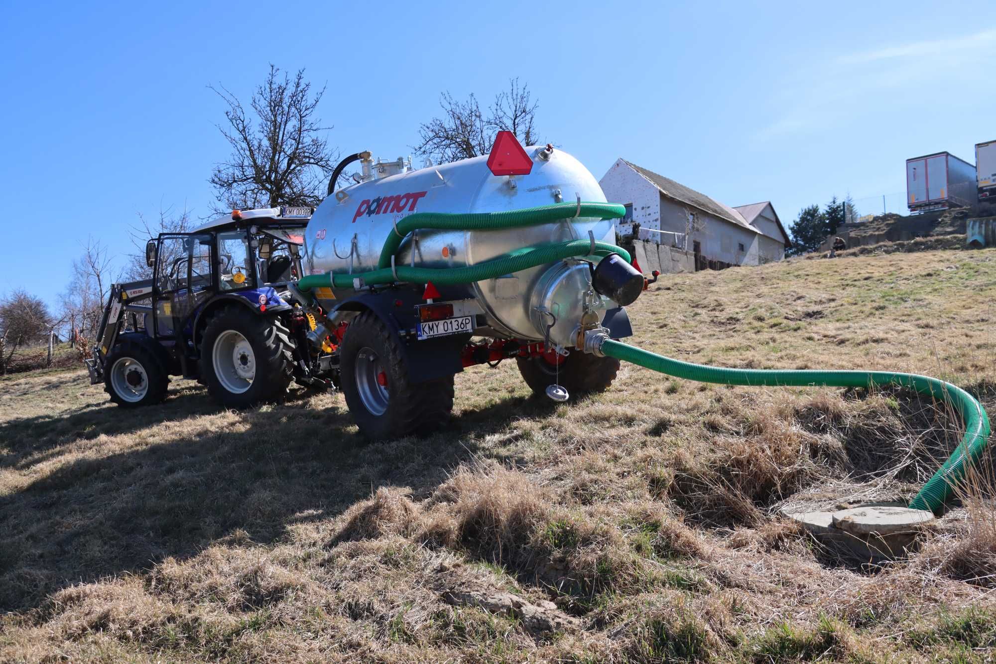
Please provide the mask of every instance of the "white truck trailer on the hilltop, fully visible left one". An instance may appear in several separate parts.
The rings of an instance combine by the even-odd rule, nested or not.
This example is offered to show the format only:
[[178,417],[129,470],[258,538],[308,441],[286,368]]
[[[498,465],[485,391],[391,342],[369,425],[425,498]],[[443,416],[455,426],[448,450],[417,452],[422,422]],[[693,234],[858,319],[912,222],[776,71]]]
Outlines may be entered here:
[[906,160],[906,201],[911,212],[972,205],[975,166],[950,153]]

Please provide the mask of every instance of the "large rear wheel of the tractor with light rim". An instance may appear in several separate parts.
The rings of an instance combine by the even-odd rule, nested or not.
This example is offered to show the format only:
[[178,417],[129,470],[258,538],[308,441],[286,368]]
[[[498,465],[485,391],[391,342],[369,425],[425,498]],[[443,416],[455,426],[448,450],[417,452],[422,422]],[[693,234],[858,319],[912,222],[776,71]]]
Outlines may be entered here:
[[[226,367],[215,367],[215,344],[227,333],[238,333],[252,350],[243,359],[253,365],[251,379],[240,378],[231,371],[225,377]],[[227,343],[223,342],[223,343]],[[204,327],[200,344],[200,375],[207,392],[228,408],[249,408],[264,401],[280,399],[287,393],[294,374],[294,343],[290,331],[275,316],[255,314],[244,307],[225,307],[211,315]],[[220,353],[219,349],[219,353]],[[235,353],[233,349],[232,353]],[[224,358],[220,359],[224,362]],[[235,385],[238,381],[242,381]],[[227,386],[226,386],[227,385]],[[238,391],[243,388],[244,390]],[[234,388],[234,389],[233,389]]]

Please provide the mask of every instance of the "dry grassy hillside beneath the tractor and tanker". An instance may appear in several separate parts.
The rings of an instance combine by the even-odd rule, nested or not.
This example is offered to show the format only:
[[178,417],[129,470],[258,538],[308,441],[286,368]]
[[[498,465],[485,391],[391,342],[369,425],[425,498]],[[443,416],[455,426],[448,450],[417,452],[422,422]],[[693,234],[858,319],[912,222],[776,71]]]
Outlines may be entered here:
[[[643,348],[924,373],[996,415],[996,250],[665,275]],[[910,498],[958,441],[899,391],[707,386],[623,366],[574,404],[514,363],[451,423],[364,444],[340,396],[220,410],[174,381],[0,381],[0,660],[971,661],[996,648],[983,487],[868,569],[786,503]],[[991,477],[991,476],[990,476]],[[985,484],[985,477],[981,484]]]

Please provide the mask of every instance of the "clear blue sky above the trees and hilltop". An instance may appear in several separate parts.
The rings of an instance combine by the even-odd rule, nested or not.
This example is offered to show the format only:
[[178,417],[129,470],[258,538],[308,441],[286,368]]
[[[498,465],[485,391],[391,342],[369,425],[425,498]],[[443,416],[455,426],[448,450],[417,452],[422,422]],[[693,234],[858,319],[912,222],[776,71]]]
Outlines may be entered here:
[[54,304],[88,234],[124,255],[137,213],[207,215],[229,151],[206,86],[247,99],[269,63],[328,84],[344,154],[407,155],[441,91],[485,101],[519,77],[542,136],[597,177],[624,157],[730,205],[770,199],[786,223],[996,139],[991,2],[373,7],[4,2],[0,293]]

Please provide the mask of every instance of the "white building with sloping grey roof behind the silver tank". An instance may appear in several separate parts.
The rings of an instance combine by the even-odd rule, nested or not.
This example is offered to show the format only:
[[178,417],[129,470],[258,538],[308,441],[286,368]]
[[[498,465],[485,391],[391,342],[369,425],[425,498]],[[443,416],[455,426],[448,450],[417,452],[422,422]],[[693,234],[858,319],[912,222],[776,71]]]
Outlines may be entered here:
[[770,201],[729,207],[622,159],[599,183],[610,201],[626,207],[625,218],[617,223],[621,235],[631,235],[634,223],[641,229],[665,231],[650,236],[719,266],[782,260],[785,247],[792,245]]

